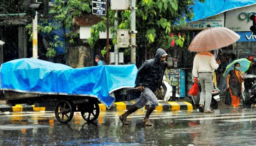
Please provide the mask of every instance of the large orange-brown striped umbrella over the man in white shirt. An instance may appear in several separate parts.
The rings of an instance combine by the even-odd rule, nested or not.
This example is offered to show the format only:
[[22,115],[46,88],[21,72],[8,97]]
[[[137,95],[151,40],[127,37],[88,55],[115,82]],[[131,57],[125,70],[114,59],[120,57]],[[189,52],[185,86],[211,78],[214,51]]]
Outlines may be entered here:
[[199,32],[193,38],[188,50],[203,52],[229,46],[240,39],[240,35],[226,27],[213,27]]

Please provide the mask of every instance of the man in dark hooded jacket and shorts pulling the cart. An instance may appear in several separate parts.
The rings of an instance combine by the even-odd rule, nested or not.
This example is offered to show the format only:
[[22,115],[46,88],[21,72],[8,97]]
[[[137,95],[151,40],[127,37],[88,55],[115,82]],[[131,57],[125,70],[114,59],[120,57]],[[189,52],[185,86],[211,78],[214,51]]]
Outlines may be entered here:
[[163,74],[167,66],[167,62],[165,61],[166,56],[167,53],[163,49],[159,48],[157,49],[155,58],[145,61],[144,64],[139,68],[135,84],[136,87],[142,91],[142,93],[140,94],[140,97],[136,103],[132,105],[127,112],[119,117],[123,124],[129,124],[126,121],[127,116],[142,108],[144,105],[146,105],[147,101],[150,101],[151,105],[147,109],[143,122],[146,126],[152,126],[149,116],[158,106],[158,100],[154,95],[154,92],[162,83]]

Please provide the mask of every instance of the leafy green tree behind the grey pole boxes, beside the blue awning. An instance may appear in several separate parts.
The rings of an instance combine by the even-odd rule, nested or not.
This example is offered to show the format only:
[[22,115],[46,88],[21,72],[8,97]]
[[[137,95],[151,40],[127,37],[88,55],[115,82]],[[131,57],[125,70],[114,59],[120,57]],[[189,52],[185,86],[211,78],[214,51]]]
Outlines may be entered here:
[[[200,0],[204,2],[204,0]],[[155,49],[156,47],[162,47],[169,49],[172,40],[176,45],[183,47],[185,38],[181,35],[174,33],[170,37],[171,32],[177,32],[180,26],[175,25],[179,23],[181,26],[186,24],[185,19],[193,18],[193,9],[189,8],[194,4],[195,0],[137,0],[136,7],[136,35],[137,40],[147,42],[148,48]],[[119,17],[119,29],[130,29],[130,10],[124,10],[120,12]],[[114,30],[114,14],[115,11],[110,10],[110,31]],[[95,24],[91,29],[91,37],[88,42],[91,47],[94,47],[95,42],[99,39],[99,31],[106,30],[106,19],[102,22]],[[137,41],[137,44],[140,42]],[[117,43],[116,35],[112,37],[113,44]],[[106,53],[105,48],[102,50],[102,54]],[[124,51],[125,54],[129,54],[129,49]]]

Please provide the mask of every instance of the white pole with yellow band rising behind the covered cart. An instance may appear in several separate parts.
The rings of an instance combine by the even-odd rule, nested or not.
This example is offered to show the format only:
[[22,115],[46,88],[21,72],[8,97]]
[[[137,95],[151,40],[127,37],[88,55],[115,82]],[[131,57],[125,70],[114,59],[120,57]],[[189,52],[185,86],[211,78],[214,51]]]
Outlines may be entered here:
[[[37,0],[35,0],[37,2]],[[33,58],[37,58],[37,11],[35,11],[35,17],[32,20],[33,25]]]

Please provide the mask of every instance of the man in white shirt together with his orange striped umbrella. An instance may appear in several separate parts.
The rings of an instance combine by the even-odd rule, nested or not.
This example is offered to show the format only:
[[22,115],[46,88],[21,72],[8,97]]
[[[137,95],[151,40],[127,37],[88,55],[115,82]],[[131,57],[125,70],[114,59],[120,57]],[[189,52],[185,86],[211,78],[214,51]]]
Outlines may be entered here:
[[199,78],[202,88],[199,103],[200,112],[213,113],[210,110],[213,87],[212,72],[218,69],[219,64],[221,64],[221,61],[216,61],[209,51],[229,46],[238,39],[240,39],[240,35],[226,27],[213,27],[199,32],[189,45],[188,50],[197,52],[192,73],[196,80]]

